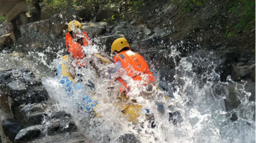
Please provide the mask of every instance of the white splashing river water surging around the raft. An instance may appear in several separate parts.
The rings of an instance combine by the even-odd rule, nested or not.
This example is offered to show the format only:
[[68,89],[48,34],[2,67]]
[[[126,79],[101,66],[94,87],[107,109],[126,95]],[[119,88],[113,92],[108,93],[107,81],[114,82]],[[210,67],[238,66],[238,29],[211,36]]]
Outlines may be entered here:
[[[50,47],[48,50],[51,52]],[[86,60],[92,59],[92,53],[97,51],[96,45],[88,47],[85,50],[89,55]],[[56,58],[62,53],[63,51],[55,53]],[[172,55],[169,58],[172,58]],[[131,142],[136,140],[135,137],[141,142],[255,142],[255,101],[248,100],[251,93],[244,89],[246,82],[238,84],[230,77],[227,77],[228,82],[220,81],[220,75],[215,71],[218,58],[218,54],[209,51],[198,51],[181,58],[174,70],[175,73],[170,73],[175,75],[175,80],[164,82],[168,91],[156,90],[152,93],[152,98],[147,99],[138,96],[138,83],[134,83],[129,77],[123,77],[131,81],[132,98],[144,109],[154,113],[154,128],[145,120],[146,110],[140,111],[138,123],[133,124],[127,121],[127,117],[116,106],[120,83],[110,80],[107,74],[108,67],[113,64],[97,63],[104,73],[101,77],[96,76],[92,68],[77,71],[84,75],[83,83],[86,84],[88,80],[94,83],[96,93],[93,94],[87,87],[87,90],[74,90],[72,95],[69,95],[65,86],[60,84],[60,77],[54,76],[54,69],[61,64],[61,60],[49,62],[46,54],[36,51],[3,51],[0,54],[0,68],[32,70],[41,78],[49,96],[59,103],[59,109],[69,112],[80,131],[93,142],[118,142],[124,134],[132,134]],[[197,72],[198,69],[201,71]],[[158,72],[154,70],[154,74],[156,73]],[[235,94],[241,104],[237,109],[227,111],[225,100],[229,96],[230,84],[235,85]],[[78,105],[82,105],[84,95],[99,103],[96,112],[101,117],[93,117],[88,111],[78,108]],[[166,99],[165,96],[169,98]],[[233,113],[237,114],[238,120],[230,120]]]

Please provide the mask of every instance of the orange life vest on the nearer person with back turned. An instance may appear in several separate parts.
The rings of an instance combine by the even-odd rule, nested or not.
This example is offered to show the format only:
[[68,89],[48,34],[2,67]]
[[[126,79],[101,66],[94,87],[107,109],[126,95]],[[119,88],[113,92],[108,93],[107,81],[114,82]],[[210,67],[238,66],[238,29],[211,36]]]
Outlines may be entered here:
[[[114,57],[114,62],[116,63],[118,61],[121,62],[122,67],[127,73],[127,76],[132,77],[133,80],[141,81],[142,75],[146,75],[145,81],[148,84],[155,82],[153,73],[151,73],[150,68],[141,55],[132,52],[131,50],[123,51]],[[117,80],[121,82],[125,88],[127,87],[127,84],[123,79],[118,78]]]

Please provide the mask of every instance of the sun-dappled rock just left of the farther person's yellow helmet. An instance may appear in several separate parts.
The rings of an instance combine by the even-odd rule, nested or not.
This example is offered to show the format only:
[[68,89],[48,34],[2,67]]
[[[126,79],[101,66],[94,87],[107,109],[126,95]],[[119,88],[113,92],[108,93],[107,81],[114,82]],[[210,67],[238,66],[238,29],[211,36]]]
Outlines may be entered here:
[[67,13],[54,14],[50,17],[49,27],[54,36],[59,37],[63,34],[63,30],[68,28],[66,22],[69,23],[71,20],[74,20],[73,15],[76,15],[76,12],[74,9],[71,9]]

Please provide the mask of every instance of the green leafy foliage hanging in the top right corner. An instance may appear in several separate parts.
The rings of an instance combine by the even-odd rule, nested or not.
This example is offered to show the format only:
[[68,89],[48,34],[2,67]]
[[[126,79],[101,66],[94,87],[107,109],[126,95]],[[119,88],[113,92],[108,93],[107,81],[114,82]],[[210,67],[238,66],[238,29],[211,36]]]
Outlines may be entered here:
[[[173,3],[182,6],[185,12],[193,8],[208,6],[226,27],[226,37],[236,34],[236,31],[245,33],[255,24],[255,1],[254,0],[172,0]],[[223,14],[226,14],[223,16]],[[226,20],[225,17],[232,17],[234,20]]]

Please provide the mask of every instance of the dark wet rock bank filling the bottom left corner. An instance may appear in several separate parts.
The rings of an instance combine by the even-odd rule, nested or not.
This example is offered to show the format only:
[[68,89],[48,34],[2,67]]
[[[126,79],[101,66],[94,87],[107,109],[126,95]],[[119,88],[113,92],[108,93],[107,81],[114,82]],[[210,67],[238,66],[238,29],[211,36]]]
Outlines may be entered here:
[[[31,71],[0,71],[0,89],[2,141],[86,141],[80,134],[72,134],[77,132],[77,127],[71,115],[57,109],[57,103],[51,101],[45,87]],[[69,136],[67,133],[72,135]]]

